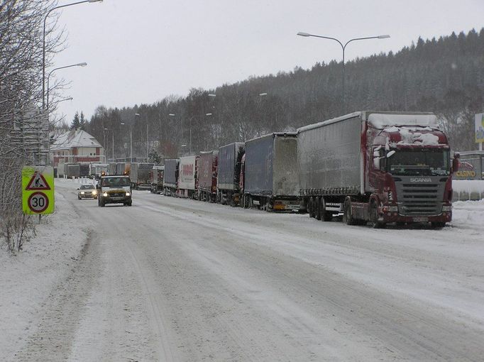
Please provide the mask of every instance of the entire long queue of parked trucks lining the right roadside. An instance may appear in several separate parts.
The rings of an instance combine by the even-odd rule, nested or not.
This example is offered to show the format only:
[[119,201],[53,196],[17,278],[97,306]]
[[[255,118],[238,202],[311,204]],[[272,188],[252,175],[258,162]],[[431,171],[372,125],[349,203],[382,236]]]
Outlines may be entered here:
[[451,221],[457,168],[458,155],[451,158],[434,114],[358,111],[163,166],[109,164],[106,173],[129,175],[131,187],[166,196],[307,211],[322,221],[342,214],[346,224],[375,228],[415,222],[440,228]]

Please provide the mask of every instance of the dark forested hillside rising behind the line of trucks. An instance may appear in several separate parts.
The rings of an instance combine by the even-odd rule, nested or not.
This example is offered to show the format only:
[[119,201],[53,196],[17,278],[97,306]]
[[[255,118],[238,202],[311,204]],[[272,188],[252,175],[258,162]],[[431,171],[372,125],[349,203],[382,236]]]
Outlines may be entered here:
[[[192,89],[187,97],[171,96],[155,104],[99,106],[87,131],[105,143],[108,155],[114,132],[116,157],[129,155],[130,128],[133,155],[146,157],[148,133],[150,151],[172,158],[190,149],[194,153],[267,132],[295,130],[343,114],[341,70],[341,62],[318,63],[310,70]],[[484,111],[484,28],[419,38],[395,54],[346,62],[345,74],[344,113],[434,111],[454,150],[476,148],[473,115]]]

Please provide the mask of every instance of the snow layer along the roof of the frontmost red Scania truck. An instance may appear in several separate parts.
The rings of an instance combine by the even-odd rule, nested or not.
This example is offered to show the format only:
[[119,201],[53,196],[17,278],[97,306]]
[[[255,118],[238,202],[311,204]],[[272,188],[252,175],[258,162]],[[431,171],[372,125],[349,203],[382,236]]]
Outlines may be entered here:
[[439,128],[437,117],[429,112],[385,112],[385,111],[358,111],[345,116],[328,119],[327,121],[309,124],[297,128],[297,133],[319,128],[322,125],[334,124],[345,119],[360,117],[362,121],[368,121],[371,126],[379,129],[392,126],[420,126]]

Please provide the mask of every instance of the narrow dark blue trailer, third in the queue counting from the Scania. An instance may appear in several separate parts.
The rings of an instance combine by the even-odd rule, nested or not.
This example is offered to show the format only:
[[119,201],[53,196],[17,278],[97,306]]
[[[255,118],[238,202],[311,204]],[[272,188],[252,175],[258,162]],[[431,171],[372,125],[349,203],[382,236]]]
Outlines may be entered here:
[[241,163],[244,143],[234,142],[219,148],[216,201],[237,206],[241,202]]

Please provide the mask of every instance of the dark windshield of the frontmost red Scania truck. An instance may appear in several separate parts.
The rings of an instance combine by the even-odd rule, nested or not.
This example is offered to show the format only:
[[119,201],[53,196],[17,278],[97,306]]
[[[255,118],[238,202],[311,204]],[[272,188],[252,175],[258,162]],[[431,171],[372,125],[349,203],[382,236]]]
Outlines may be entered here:
[[392,175],[450,175],[449,150],[395,150],[387,159],[387,172]]

